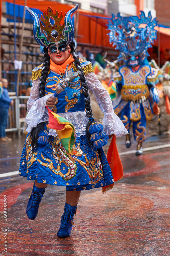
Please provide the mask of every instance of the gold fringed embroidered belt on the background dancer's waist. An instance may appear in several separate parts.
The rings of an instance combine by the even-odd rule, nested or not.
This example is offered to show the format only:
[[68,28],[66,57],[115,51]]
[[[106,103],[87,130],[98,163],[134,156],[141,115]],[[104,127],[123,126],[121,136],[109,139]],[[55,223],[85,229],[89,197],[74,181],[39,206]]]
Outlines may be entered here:
[[141,99],[143,96],[147,99],[149,97],[149,89],[147,85],[124,85],[122,86],[121,94],[123,100],[136,101]]

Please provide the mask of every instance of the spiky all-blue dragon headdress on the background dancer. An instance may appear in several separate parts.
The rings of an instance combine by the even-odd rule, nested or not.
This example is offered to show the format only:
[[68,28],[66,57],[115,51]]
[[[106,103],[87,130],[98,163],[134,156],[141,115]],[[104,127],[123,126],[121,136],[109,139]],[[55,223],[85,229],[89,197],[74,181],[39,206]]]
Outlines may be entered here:
[[117,13],[117,17],[112,13],[112,20],[108,20],[108,33],[110,43],[116,46],[116,50],[120,50],[125,56],[146,57],[147,49],[152,47],[153,40],[156,40],[157,20],[152,20],[151,12],[148,17],[145,13],[137,16],[121,17]]

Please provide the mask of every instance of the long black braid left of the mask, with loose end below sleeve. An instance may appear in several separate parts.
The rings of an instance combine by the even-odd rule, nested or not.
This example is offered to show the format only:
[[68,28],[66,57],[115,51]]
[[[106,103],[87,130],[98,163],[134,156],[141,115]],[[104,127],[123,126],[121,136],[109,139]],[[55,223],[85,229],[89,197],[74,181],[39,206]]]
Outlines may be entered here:
[[[48,48],[44,47],[44,63],[43,63],[41,77],[40,77],[40,84],[39,84],[40,98],[45,96],[45,83],[48,76],[49,67],[50,67],[50,57],[48,55]],[[44,130],[44,124],[45,122],[37,124],[37,126],[33,127],[30,132],[32,151],[34,146],[38,146],[38,143],[37,143],[38,133]]]

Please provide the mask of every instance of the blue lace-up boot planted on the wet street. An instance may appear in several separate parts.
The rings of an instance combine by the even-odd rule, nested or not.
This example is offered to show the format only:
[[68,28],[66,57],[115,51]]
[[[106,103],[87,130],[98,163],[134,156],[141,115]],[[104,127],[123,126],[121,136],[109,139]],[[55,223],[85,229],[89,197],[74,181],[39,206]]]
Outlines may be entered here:
[[61,216],[61,225],[58,230],[58,237],[69,237],[71,234],[72,227],[74,225],[74,214],[76,214],[77,205],[71,206],[69,204],[65,204],[64,213]]

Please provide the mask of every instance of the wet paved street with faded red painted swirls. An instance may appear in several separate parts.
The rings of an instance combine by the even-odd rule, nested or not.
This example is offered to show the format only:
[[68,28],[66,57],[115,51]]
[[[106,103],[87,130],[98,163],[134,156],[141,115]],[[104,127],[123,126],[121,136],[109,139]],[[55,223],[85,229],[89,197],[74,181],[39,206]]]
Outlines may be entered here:
[[[25,138],[0,144],[1,174],[19,169]],[[35,220],[26,215],[33,182],[18,175],[0,177],[1,251],[19,256],[167,256],[170,253],[169,135],[148,137],[142,156],[133,142],[117,138],[124,177],[112,190],[82,191],[69,238],[57,238],[65,188],[48,185]],[[105,147],[107,153],[108,145]],[[4,194],[8,196],[8,252],[3,252]]]

